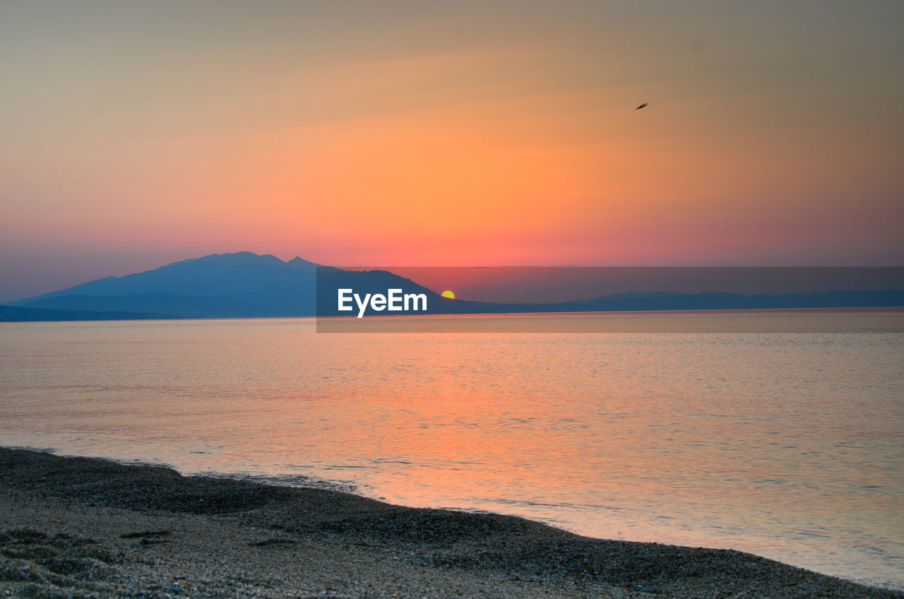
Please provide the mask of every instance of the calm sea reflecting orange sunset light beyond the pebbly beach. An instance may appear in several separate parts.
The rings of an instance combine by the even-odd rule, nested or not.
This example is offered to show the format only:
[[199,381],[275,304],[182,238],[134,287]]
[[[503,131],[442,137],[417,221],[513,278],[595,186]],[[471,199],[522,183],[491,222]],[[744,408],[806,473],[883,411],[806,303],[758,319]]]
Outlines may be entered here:
[[[682,332],[3,323],[0,444],[311,477],[904,588],[904,314],[762,317],[822,323],[793,333],[644,318]],[[871,330],[824,332],[854,318]]]

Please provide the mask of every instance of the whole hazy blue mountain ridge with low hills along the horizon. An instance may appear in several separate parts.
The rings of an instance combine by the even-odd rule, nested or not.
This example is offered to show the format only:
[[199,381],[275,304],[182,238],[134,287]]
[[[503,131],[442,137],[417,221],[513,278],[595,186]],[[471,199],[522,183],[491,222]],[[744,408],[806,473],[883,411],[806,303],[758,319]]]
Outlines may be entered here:
[[[778,295],[619,293],[555,303],[447,299],[390,271],[344,271],[252,252],[211,254],[153,271],[92,280],[0,309],[0,320],[259,318],[350,316],[337,310],[338,289],[362,295],[401,289],[423,293],[427,314],[587,312],[675,309],[801,309],[904,306],[904,290],[837,290]],[[20,311],[16,311],[16,310]],[[24,309],[30,312],[21,311]],[[367,311],[391,314],[388,311]],[[393,314],[399,314],[394,312]]]

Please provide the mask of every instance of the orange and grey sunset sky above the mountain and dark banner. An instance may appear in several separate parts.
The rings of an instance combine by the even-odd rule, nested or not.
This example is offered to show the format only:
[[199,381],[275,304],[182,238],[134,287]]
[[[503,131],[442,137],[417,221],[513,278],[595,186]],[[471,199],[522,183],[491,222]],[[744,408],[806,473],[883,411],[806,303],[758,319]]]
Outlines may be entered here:
[[0,300],[238,251],[904,265],[902,26],[898,0],[5,0]]

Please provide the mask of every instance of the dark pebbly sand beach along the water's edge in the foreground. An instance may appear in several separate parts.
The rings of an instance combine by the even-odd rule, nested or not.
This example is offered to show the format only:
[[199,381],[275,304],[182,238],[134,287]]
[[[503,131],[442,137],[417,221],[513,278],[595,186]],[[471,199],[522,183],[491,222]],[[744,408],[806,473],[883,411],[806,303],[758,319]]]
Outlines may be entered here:
[[904,598],[736,551],[0,449],[4,594]]

